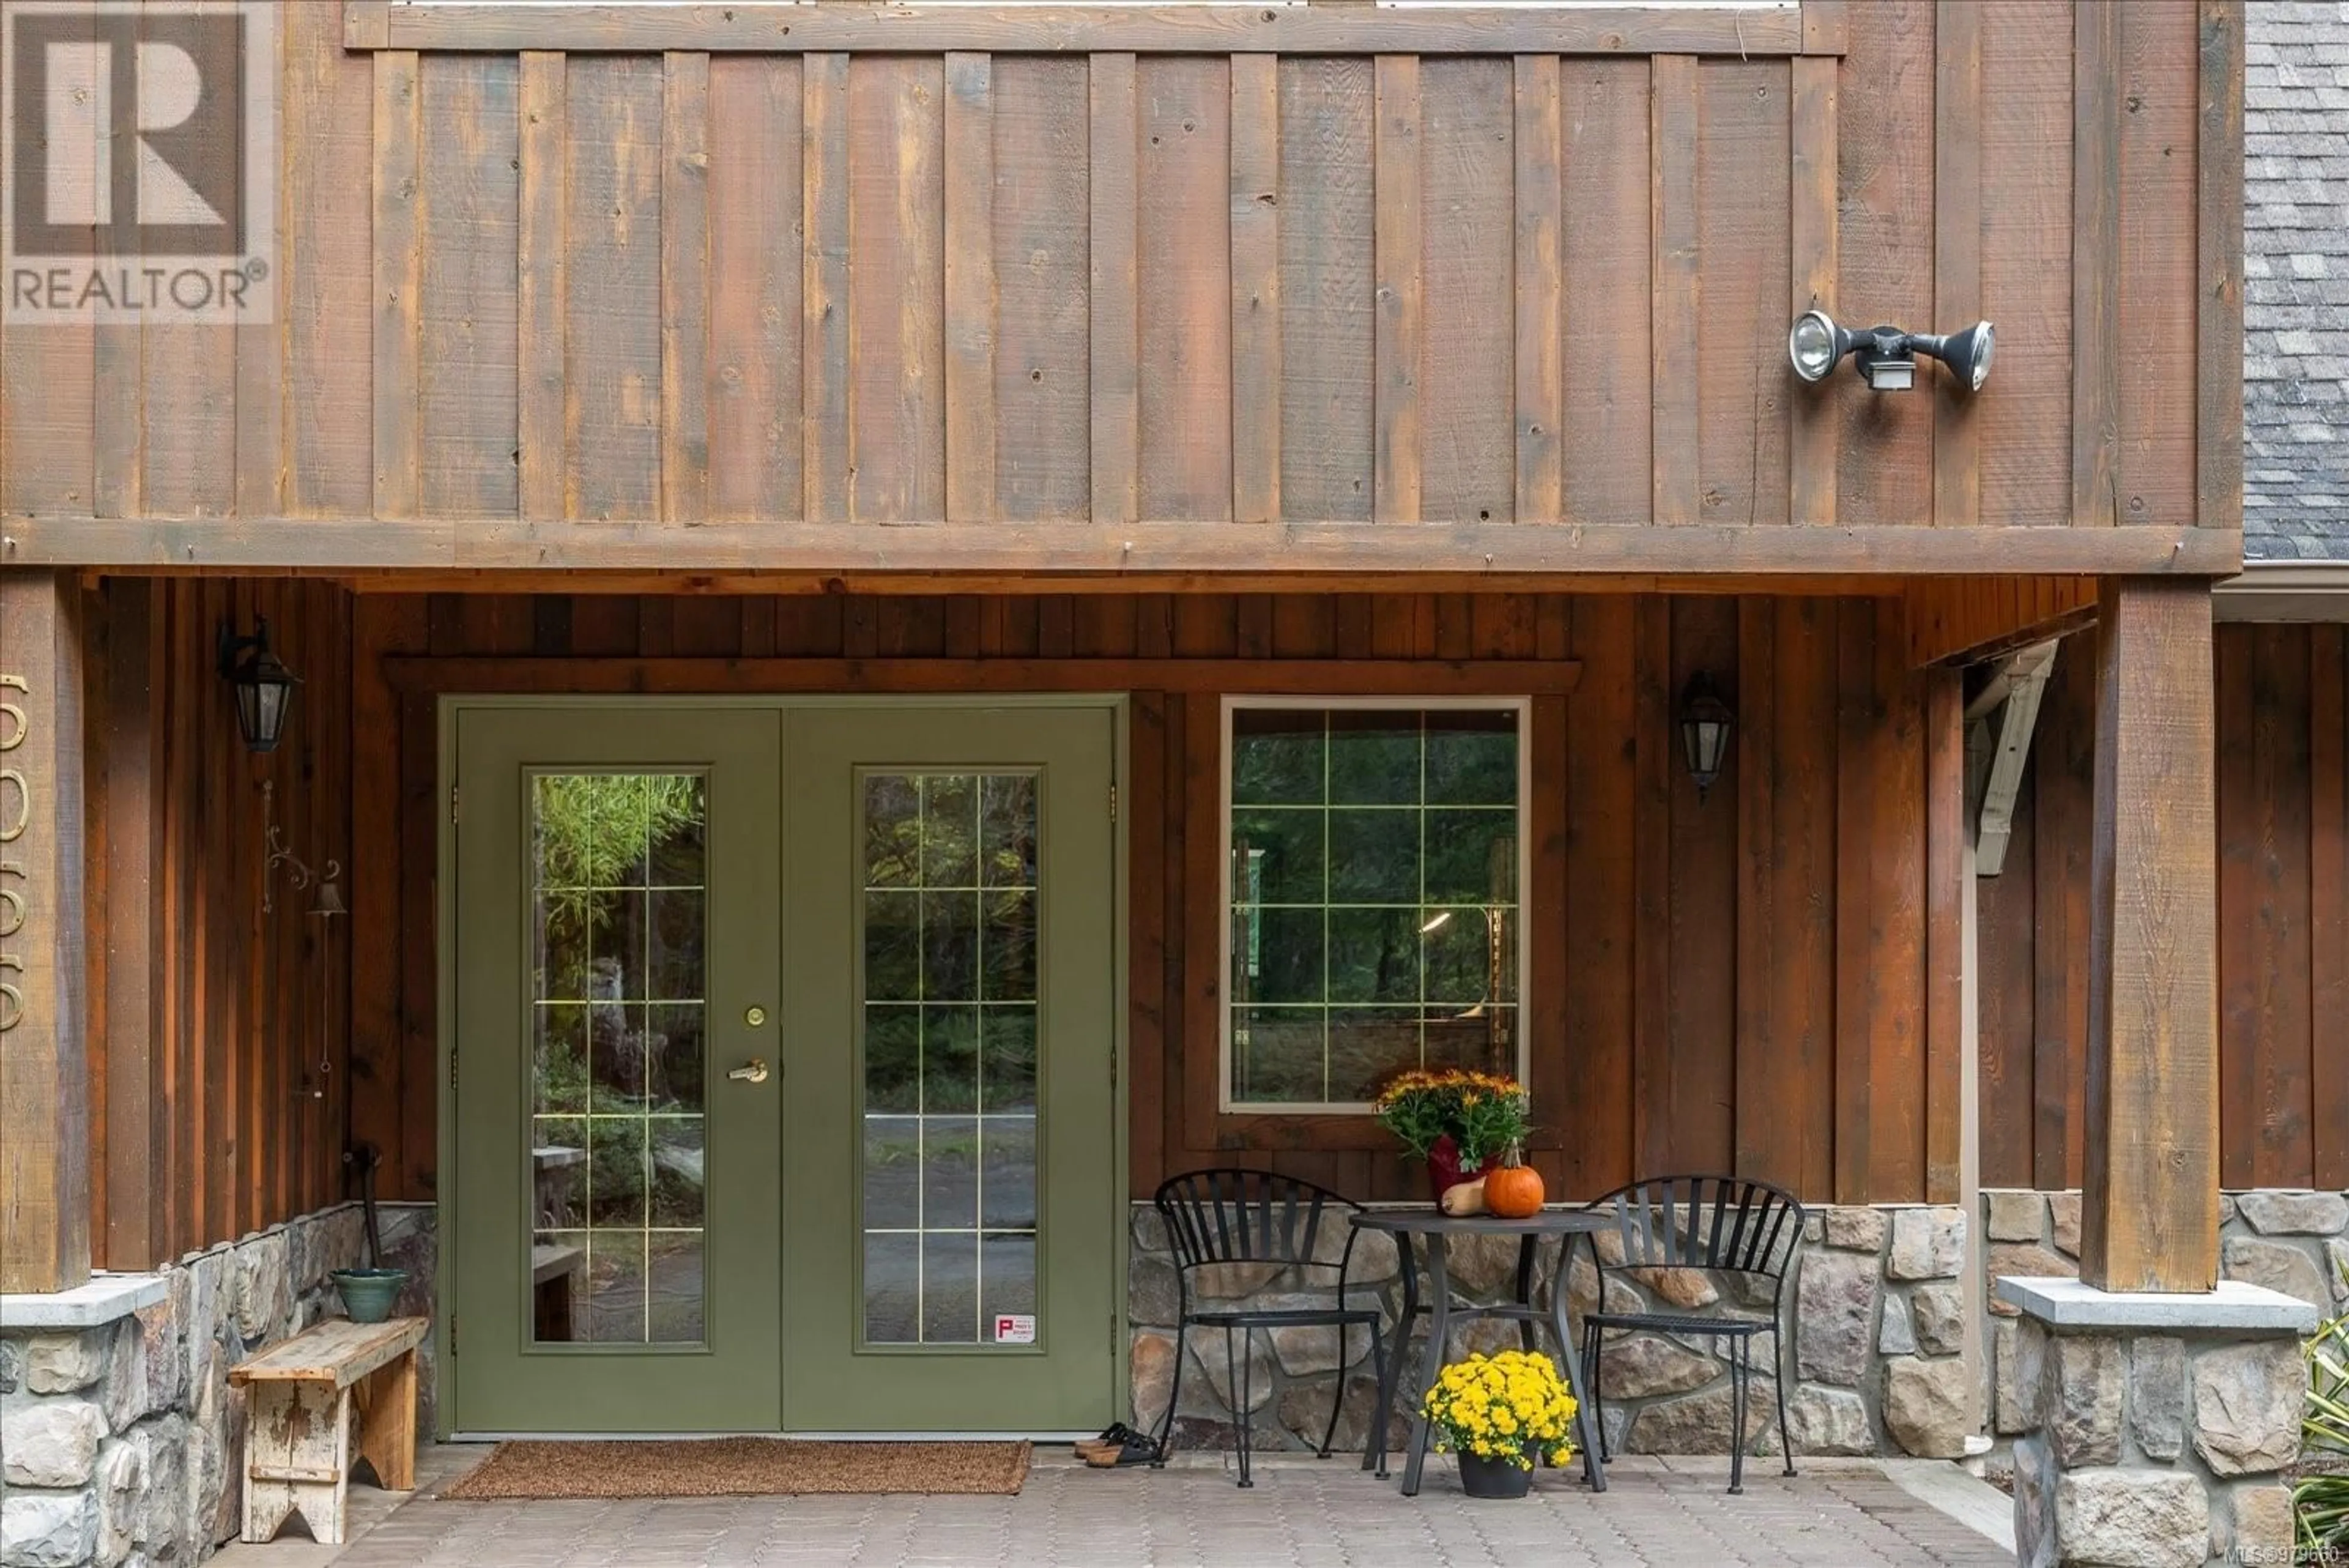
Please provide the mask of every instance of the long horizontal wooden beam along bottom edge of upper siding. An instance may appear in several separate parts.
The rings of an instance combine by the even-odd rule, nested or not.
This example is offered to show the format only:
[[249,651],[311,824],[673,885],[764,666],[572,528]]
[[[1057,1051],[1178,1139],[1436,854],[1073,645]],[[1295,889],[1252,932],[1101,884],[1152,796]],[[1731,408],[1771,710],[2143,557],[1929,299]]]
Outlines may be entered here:
[[[810,421],[813,425],[813,421]],[[813,494],[813,491],[810,491]],[[1515,527],[1358,522],[1137,522],[942,527],[848,522],[653,520],[594,524],[496,520],[120,520],[9,517],[5,567],[148,571],[660,571],[698,574],[1008,574],[1034,578],[1151,574],[1332,576],[1416,571],[1461,588],[1513,571],[1687,576],[2192,576],[2241,571],[2243,536],[2192,524],[2119,529],[1912,529],[1903,524],[1773,529],[1743,524]],[[1997,548],[1992,548],[1992,543]],[[1891,585],[1886,583],[1886,590]],[[1919,661],[1931,663],[1931,661]]]

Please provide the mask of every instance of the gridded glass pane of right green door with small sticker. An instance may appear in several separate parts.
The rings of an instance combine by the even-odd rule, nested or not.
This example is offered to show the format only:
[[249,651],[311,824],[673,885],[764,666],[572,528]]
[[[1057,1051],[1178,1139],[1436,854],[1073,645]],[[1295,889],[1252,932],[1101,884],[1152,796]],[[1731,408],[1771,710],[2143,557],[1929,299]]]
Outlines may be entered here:
[[1036,1312],[1036,778],[862,780],[864,1340]]

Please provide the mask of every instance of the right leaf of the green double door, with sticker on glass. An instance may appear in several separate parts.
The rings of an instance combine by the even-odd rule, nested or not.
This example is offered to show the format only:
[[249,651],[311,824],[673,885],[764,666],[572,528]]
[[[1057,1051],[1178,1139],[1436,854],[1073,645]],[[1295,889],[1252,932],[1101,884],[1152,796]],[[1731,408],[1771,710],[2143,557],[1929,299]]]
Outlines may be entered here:
[[808,708],[785,738],[785,1413],[1118,1408],[1113,724]]

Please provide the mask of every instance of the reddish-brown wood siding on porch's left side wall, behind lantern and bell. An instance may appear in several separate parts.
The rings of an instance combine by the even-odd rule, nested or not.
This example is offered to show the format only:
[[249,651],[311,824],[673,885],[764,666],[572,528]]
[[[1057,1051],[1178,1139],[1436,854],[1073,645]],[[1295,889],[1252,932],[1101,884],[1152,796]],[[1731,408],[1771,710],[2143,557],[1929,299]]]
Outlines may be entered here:
[[[270,755],[214,672],[218,628],[254,616],[303,682]],[[352,922],[284,865],[261,910],[261,785],[284,849],[350,865],[350,595],[110,578],[82,621],[89,1251],[146,1269],[345,1197]]]

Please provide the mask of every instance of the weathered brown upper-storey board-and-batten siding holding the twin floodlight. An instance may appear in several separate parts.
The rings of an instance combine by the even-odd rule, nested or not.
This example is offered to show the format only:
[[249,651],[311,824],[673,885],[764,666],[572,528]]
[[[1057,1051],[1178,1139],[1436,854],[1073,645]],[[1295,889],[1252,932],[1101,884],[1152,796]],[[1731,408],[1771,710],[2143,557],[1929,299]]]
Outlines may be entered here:
[[[1139,522],[1792,520],[1860,527],[1851,569],[1898,569],[1867,524],[2239,527],[2196,501],[2217,0],[1820,5],[1842,54],[1755,59],[467,54],[341,9],[284,9],[277,327],[0,343],[16,559],[92,517],[216,522],[73,534],[174,567],[674,571],[972,538],[789,524],[1095,524],[1092,571],[1172,559]],[[1802,388],[1813,301],[1990,315],[1997,378]],[[369,517],[416,527],[287,527]],[[1684,543],[1654,564],[1724,569]],[[2126,548],[2046,569],[2170,562]]]

